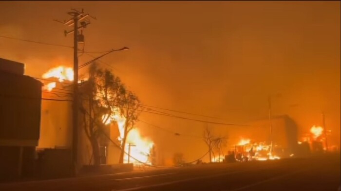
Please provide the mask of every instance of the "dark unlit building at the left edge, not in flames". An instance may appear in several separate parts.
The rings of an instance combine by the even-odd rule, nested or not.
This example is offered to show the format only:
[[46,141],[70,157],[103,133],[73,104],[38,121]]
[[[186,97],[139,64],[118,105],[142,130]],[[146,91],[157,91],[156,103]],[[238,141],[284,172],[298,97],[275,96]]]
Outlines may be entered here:
[[41,86],[24,64],[0,58],[0,180],[34,172]]

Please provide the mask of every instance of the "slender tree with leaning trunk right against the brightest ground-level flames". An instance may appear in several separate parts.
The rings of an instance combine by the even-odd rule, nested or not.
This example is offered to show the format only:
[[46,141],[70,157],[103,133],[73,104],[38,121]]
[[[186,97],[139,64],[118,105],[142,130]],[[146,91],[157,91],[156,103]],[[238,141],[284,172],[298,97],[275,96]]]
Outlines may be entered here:
[[119,163],[123,163],[125,146],[127,141],[127,136],[129,132],[133,129],[141,109],[141,102],[136,95],[131,91],[126,91],[120,99],[120,111],[121,115],[125,117],[126,123],[124,124],[124,134],[122,137],[121,144],[121,154],[119,158]]

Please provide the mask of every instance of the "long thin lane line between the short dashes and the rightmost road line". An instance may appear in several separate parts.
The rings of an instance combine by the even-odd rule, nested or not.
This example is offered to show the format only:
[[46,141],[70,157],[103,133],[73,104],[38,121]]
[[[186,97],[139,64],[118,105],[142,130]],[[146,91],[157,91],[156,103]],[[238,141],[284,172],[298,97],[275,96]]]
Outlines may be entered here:
[[171,181],[171,182],[165,182],[165,183],[160,183],[160,184],[153,184],[149,186],[140,186],[140,187],[135,187],[135,188],[129,188],[129,189],[122,189],[122,190],[116,190],[116,191],[135,191],[135,190],[140,190],[140,189],[150,189],[153,187],[159,187],[159,186],[166,186],[170,184],[176,184],[176,183],[182,183],[182,182],[188,182],[191,180],[200,180],[200,179],[205,179],[205,178],[212,178],[212,177],[217,177],[217,176],[222,176],[222,175],[233,175],[237,173],[245,173],[249,172],[250,170],[245,170],[245,171],[233,171],[233,172],[228,172],[228,173],[223,173],[223,174],[218,174],[218,175],[206,175],[206,176],[200,176],[200,177],[195,177],[195,178],[188,178],[184,180],[176,180],[176,181]]

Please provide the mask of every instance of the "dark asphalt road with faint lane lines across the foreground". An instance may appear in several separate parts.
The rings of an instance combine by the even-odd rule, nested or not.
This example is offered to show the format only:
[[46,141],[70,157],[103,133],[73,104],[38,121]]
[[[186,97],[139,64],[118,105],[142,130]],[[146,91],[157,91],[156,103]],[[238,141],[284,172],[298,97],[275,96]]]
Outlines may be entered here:
[[0,191],[338,191],[340,154],[0,184]]

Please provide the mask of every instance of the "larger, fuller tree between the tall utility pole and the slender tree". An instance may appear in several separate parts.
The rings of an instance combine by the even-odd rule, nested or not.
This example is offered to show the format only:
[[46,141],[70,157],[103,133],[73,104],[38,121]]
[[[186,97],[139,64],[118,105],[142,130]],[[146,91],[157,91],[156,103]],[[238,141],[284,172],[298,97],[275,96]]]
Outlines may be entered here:
[[100,131],[105,131],[107,121],[114,114],[125,89],[121,80],[109,70],[97,68],[92,64],[89,79],[80,84],[80,102],[83,113],[83,128],[91,143],[94,165],[100,164]]

